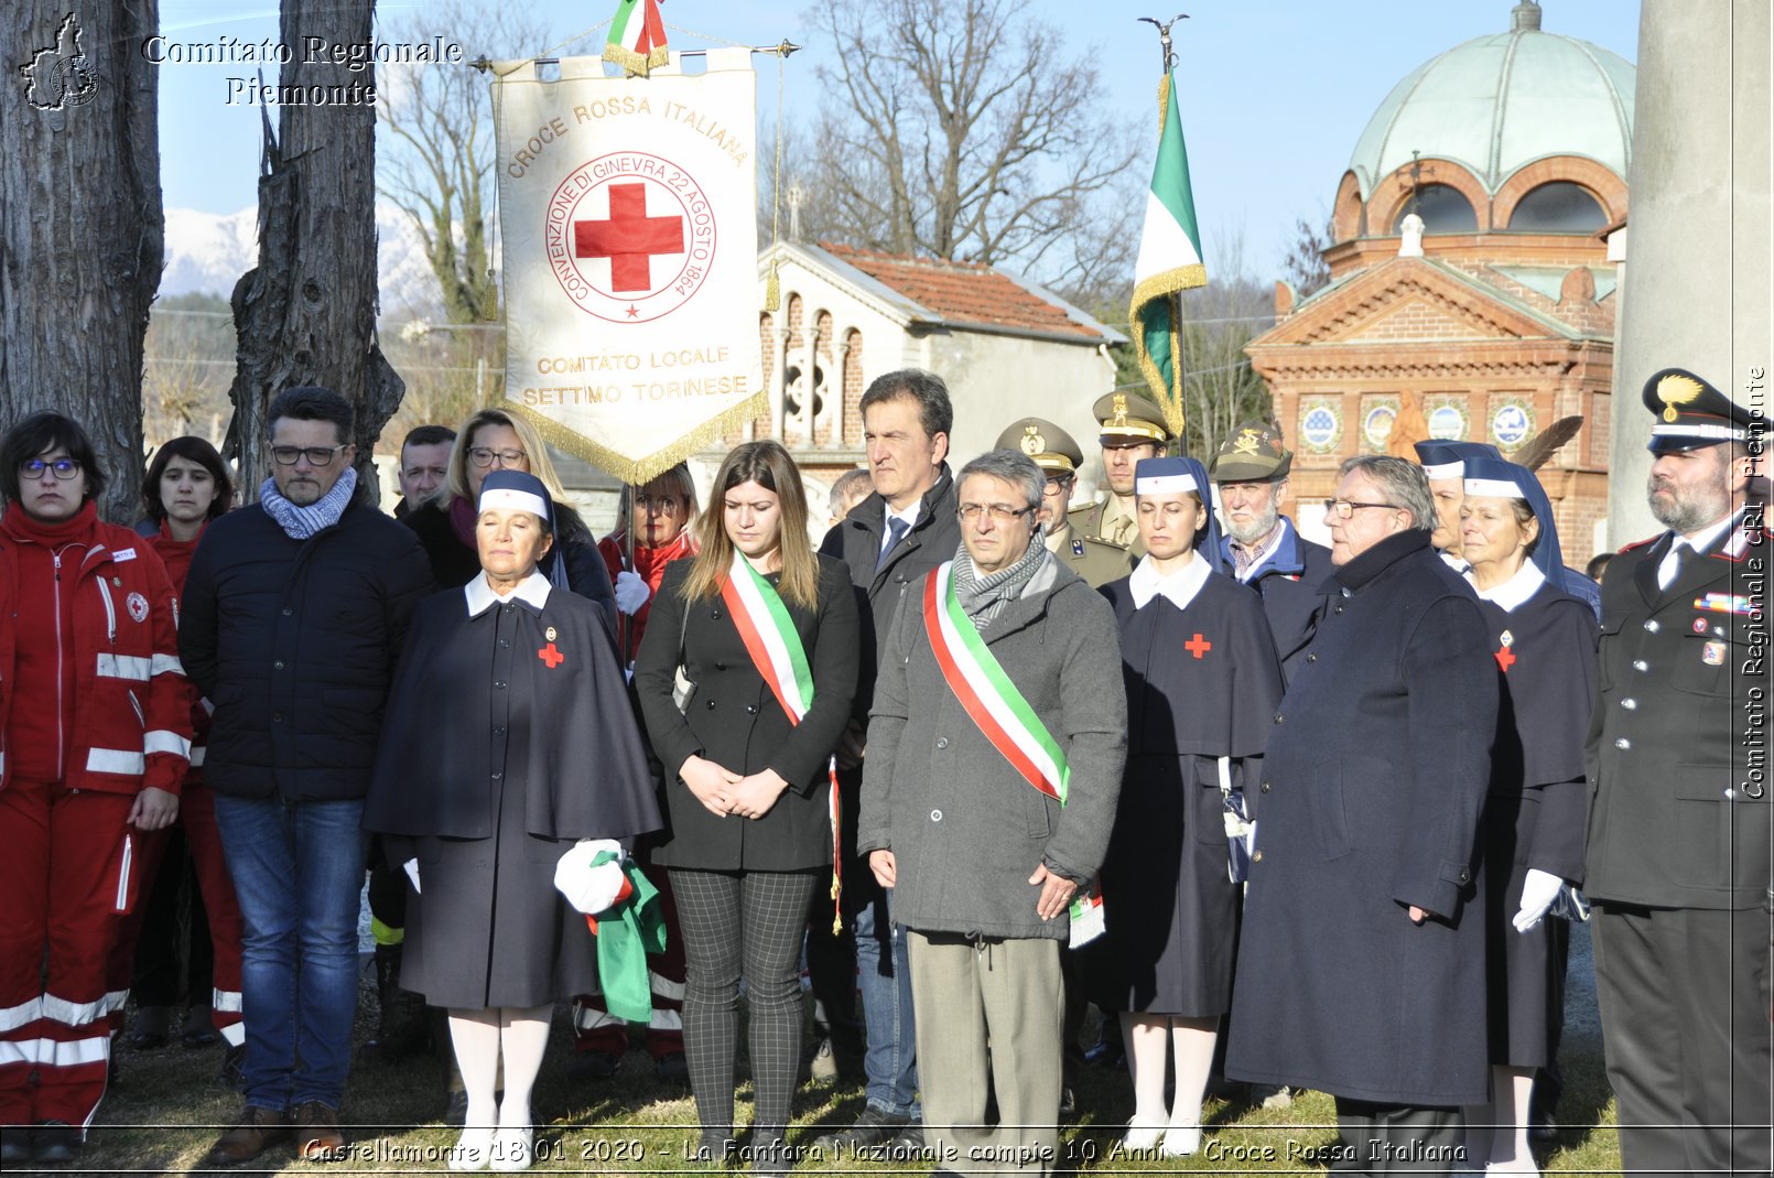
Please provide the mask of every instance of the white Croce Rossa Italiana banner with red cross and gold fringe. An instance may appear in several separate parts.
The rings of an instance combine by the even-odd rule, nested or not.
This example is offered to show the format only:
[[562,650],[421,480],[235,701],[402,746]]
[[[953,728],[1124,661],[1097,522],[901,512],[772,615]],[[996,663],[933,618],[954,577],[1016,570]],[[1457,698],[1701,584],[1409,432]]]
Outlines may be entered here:
[[750,51],[706,64],[495,64],[506,399],[632,484],[765,396]]

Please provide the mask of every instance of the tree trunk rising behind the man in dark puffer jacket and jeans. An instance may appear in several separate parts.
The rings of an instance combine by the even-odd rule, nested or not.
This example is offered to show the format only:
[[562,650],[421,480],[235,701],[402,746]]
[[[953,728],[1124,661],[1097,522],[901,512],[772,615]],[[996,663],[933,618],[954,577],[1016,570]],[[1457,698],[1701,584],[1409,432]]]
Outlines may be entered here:
[[[374,0],[284,0],[282,41],[364,44],[374,11]],[[374,73],[303,57],[291,53],[279,83],[325,89],[328,101],[284,101],[275,140],[266,133],[259,264],[234,284],[229,445],[245,499],[257,499],[270,474],[271,399],[291,385],[335,389],[357,410],[358,493],[374,504],[371,449],[404,392],[376,344],[376,108],[362,98]]]

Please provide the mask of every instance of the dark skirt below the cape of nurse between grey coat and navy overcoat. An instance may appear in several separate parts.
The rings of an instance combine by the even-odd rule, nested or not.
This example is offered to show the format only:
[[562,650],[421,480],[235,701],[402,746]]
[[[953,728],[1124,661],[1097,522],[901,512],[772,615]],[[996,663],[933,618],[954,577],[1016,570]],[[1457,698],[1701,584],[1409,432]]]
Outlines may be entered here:
[[1132,756],[1103,859],[1098,992],[1118,1009],[1210,1018],[1231,1008],[1238,885],[1226,873],[1217,770],[1192,756]]

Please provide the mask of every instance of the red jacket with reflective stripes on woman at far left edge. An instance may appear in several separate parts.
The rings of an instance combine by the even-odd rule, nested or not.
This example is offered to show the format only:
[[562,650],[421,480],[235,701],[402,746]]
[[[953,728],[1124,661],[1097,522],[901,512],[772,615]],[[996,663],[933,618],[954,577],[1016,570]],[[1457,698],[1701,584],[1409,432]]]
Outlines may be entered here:
[[[82,520],[85,516],[85,520]],[[145,786],[179,793],[190,756],[192,695],[179,664],[177,600],[160,557],[140,536],[98,520],[92,504],[55,538],[39,536],[18,504],[0,520],[0,789],[18,763],[20,742],[43,742],[34,761],[67,756],[71,789],[137,793]],[[30,548],[37,552],[30,552]],[[44,550],[73,577],[71,619],[60,626],[55,582],[27,568]],[[21,692],[50,692],[50,683],[21,683],[21,626],[55,628],[57,662],[67,695],[50,711],[59,724],[20,722]],[[32,708],[35,713],[35,708]],[[66,724],[64,731],[55,731]]]

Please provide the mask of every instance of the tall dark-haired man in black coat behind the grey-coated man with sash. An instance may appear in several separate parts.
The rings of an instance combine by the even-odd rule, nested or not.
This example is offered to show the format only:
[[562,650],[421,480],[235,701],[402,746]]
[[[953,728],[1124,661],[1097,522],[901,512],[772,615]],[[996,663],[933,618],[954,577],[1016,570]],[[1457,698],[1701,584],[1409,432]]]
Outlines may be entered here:
[[[862,621],[855,720],[839,749],[844,809],[844,896],[855,912],[855,967],[832,938],[807,946],[814,992],[828,1018],[852,1006],[850,978],[862,990],[867,1031],[867,1107],[857,1123],[820,1139],[828,1153],[855,1155],[894,1141],[922,1146],[917,1118],[917,1040],[912,1020],[912,974],[905,938],[892,924],[891,892],[880,889],[855,853],[857,795],[875,674],[892,619],[933,568],[954,557],[962,529],[954,518],[954,475],[949,474],[949,431],[954,410],[949,387],[935,373],[903,369],[876,378],[862,394],[862,436],[875,493],[825,534],[820,552],[850,566]],[[823,958],[823,960],[821,960]]]

